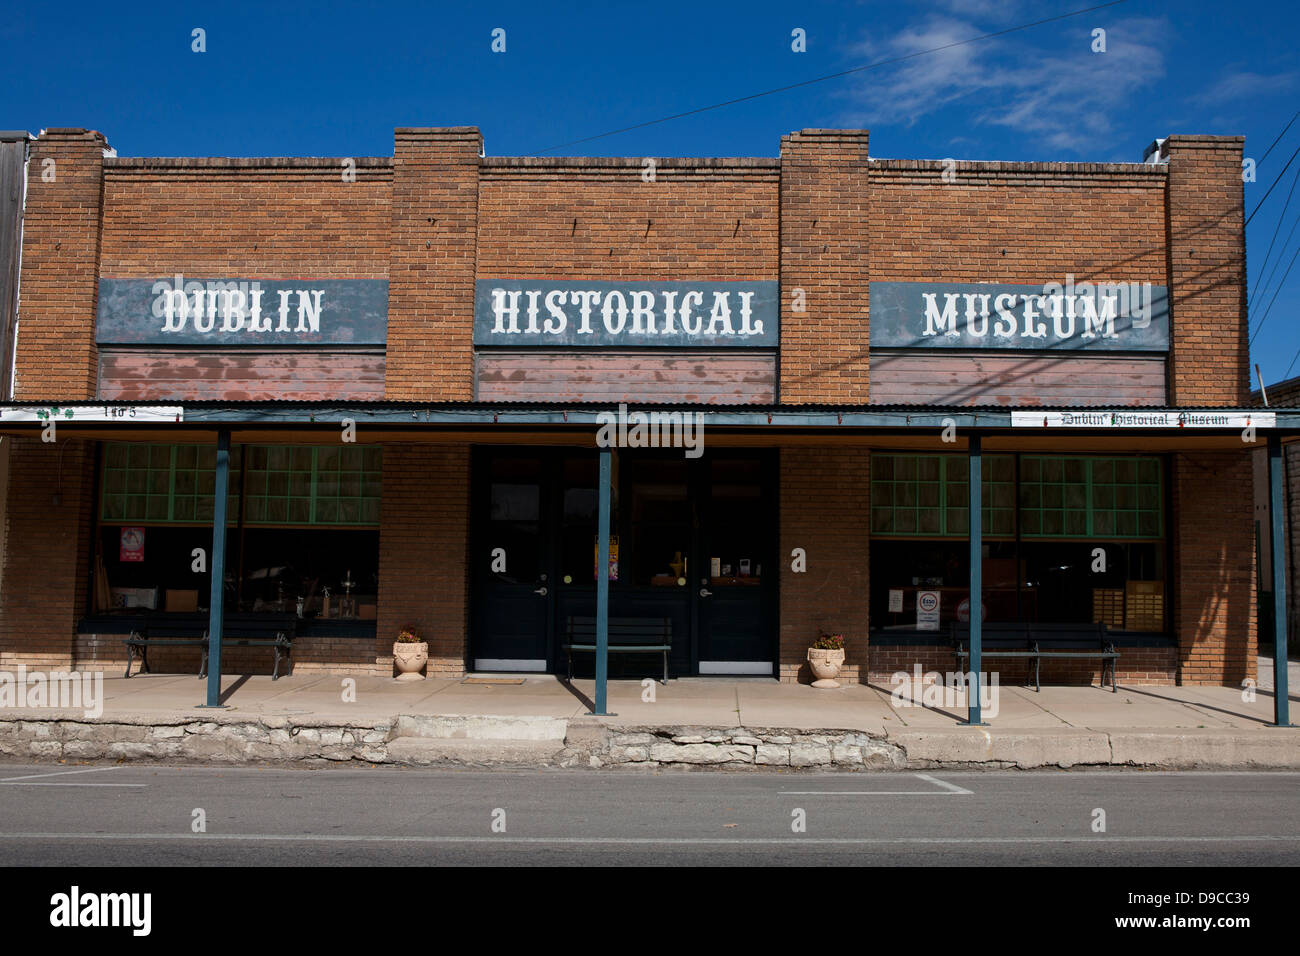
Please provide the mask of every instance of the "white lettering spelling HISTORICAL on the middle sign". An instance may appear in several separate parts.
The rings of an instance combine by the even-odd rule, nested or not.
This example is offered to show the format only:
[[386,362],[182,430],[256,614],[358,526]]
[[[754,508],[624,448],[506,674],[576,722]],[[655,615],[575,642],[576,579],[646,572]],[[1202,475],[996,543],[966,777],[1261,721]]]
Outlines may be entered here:
[[[302,293],[299,293],[302,295]],[[754,293],[737,290],[541,290],[491,289],[491,334],[521,332],[562,336],[572,328],[578,336],[673,336],[679,329],[689,336],[748,338],[763,336],[762,319],[754,317]],[[521,307],[520,297],[525,298]],[[679,298],[680,297],[680,298]],[[318,298],[318,294],[317,294]],[[546,311],[537,324],[538,302]],[[302,310],[302,306],[299,306]],[[528,319],[520,328],[520,315]],[[598,315],[598,325],[593,323]],[[956,332],[953,333],[956,334]]]

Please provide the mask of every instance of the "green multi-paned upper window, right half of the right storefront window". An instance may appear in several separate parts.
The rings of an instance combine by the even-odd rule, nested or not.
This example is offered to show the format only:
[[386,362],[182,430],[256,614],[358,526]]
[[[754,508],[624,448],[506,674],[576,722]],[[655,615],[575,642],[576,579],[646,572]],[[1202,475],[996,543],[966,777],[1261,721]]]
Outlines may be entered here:
[[1024,537],[1158,538],[1164,535],[1158,458],[1020,459]]

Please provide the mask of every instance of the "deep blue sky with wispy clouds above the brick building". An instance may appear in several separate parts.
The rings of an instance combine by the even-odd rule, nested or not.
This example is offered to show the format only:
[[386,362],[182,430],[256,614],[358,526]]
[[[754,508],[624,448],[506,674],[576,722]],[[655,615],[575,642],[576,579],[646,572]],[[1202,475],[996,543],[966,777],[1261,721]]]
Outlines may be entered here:
[[[493,156],[774,156],[790,130],[866,126],[881,157],[1088,161],[1138,161],[1169,133],[1243,134],[1254,209],[1300,146],[1296,121],[1264,157],[1300,109],[1297,4],[1126,0],[923,52],[1095,3],[13,4],[0,127],[88,126],[122,156],[387,156],[395,126],[445,125],[481,127]],[[1297,170],[1300,156],[1247,230],[1252,330],[1273,302],[1252,347],[1268,382],[1300,351],[1300,261],[1280,282],[1300,189],[1265,264]]]

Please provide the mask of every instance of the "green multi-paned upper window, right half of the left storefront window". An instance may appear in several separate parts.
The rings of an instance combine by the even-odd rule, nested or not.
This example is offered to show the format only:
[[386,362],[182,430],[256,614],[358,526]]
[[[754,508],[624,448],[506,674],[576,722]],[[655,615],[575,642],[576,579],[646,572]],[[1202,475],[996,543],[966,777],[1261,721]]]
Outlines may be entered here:
[[382,449],[250,445],[244,522],[377,525]]

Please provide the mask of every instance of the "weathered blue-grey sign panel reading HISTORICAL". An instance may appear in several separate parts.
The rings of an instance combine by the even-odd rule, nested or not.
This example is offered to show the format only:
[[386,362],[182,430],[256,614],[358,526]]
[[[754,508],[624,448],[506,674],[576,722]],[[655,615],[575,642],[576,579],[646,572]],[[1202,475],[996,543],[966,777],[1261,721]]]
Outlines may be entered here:
[[772,281],[480,280],[474,345],[775,349],[779,306]]

